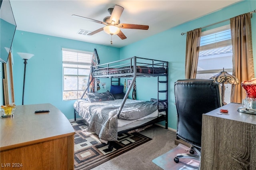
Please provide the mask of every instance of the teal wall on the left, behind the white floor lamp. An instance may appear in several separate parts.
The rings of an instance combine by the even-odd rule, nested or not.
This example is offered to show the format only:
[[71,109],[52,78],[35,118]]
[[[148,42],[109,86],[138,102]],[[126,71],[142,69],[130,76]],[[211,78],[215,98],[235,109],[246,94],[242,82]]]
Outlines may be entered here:
[[13,42],[15,104],[22,104],[24,63],[17,52],[32,53],[26,66],[24,105],[51,103],[74,119],[74,100],[62,101],[62,47],[83,51],[97,49],[100,63],[119,59],[119,48],[16,31]]

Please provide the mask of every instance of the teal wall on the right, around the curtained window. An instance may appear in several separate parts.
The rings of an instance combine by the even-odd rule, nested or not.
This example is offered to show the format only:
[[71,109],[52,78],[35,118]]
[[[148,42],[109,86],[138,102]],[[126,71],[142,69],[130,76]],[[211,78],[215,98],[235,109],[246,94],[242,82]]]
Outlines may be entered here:
[[[136,43],[132,43],[120,49],[121,59],[138,56],[152,59],[169,61],[169,102],[168,102],[168,127],[176,129],[176,106],[174,99],[174,82],[185,78],[185,52],[186,52],[186,34],[181,36],[182,32],[188,32],[196,28],[204,27],[216,22],[220,22],[240,14],[256,10],[256,1],[243,1],[217,12],[197,18],[190,22],[181,24],[160,34],[156,34]],[[252,43],[254,51],[254,65],[256,66],[256,14],[252,18]],[[222,23],[223,24],[223,23]],[[229,24],[229,22],[227,23]],[[221,24],[220,24],[221,25]],[[216,25],[215,25],[216,27]],[[149,28],[150,29],[150,28]],[[205,28],[204,30],[212,29]],[[222,66],[220,65],[220,68]],[[254,67],[255,68],[255,67]],[[143,82],[142,82],[143,81]],[[151,78],[137,79],[137,96],[140,100],[156,97],[157,80]],[[164,125],[164,124],[162,124]]]

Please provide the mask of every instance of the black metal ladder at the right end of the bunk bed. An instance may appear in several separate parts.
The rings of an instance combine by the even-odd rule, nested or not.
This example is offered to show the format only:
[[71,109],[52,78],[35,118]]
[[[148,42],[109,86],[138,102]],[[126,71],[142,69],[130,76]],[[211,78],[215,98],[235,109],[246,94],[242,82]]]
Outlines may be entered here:
[[[164,80],[160,80],[164,79]],[[165,119],[165,128],[168,129],[168,75],[166,76],[158,76],[158,111],[165,111],[166,119]],[[161,90],[160,90],[161,89]],[[161,97],[161,99],[159,99]],[[159,109],[159,103],[165,103],[166,107],[164,109]]]

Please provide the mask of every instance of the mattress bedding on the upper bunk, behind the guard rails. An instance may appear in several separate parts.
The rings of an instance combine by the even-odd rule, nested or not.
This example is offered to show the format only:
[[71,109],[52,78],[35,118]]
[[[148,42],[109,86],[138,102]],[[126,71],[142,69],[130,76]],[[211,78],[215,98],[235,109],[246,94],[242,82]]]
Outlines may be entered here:
[[[154,69],[154,74],[166,74],[167,70],[164,67],[146,67],[137,66],[137,73],[152,74]],[[133,73],[133,66],[119,67],[119,68],[102,68],[94,70],[94,76],[96,75],[112,75],[112,74],[123,74],[123,73]]]

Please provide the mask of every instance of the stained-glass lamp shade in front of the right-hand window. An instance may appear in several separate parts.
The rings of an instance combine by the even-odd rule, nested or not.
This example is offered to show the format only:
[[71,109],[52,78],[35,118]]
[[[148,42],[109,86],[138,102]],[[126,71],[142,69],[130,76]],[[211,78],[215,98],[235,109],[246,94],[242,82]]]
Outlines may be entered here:
[[224,84],[238,84],[239,83],[239,79],[236,78],[234,75],[229,74],[228,72],[224,71],[220,71],[220,73],[210,77],[210,79],[215,80],[218,83],[224,83]]

